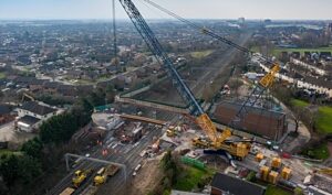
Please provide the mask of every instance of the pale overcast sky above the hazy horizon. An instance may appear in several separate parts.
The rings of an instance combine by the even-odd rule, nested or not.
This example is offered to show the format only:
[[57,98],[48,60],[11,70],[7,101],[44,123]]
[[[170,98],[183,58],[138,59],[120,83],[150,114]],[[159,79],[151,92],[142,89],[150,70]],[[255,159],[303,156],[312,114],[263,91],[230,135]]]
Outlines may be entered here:
[[[127,18],[116,1],[118,19]],[[153,0],[188,19],[331,20],[332,0]],[[144,0],[143,17],[167,19]],[[111,19],[112,0],[0,0],[0,19]]]

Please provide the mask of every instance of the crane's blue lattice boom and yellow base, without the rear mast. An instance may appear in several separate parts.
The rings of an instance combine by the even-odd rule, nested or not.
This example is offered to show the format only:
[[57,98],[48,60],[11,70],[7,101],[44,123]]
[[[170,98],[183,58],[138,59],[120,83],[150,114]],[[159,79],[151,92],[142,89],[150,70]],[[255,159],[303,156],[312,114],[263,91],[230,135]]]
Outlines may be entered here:
[[151,30],[145,19],[139,13],[136,6],[132,0],[120,0],[120,3],[124,8],[125,12],[129,17],[131,21],[135,25],[136,30],[147,44],[148,48],[155,55],[158,62],[166,69],[169,78],[174,86],[177,88],[181,98],[188,102],[189,111],[193,117],[196,119],[196,123],[205,131],[209,141],[203,141],[199,138],[194,139],[193,142],[195,145],[212,148],[216,150],[225,150],[237,159],[243,159],[250,150],[250,145],[248,143],[242,142],[232,142],[226,143],[225,140],[231,136],[231,131],[229,129],[225,129],[221,133],[217,132],[217,128],[212,123],[211,119],[207,113],[204,112],[200,105],[197,102],[195,96],[193,95],[189,87],[180,77],[173,62],[168,57],[168,55],[164,52],[164,48],[159,41],[156,39],[154,32]]

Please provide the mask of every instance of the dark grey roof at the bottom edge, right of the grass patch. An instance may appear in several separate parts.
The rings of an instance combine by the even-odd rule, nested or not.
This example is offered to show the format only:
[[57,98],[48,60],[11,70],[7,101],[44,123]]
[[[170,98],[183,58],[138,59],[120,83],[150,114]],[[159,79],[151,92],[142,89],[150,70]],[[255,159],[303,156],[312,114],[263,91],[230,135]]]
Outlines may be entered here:
[[215,174],[211,186],[232,195],[263,195],[266,192],[266,187],[222,173]]

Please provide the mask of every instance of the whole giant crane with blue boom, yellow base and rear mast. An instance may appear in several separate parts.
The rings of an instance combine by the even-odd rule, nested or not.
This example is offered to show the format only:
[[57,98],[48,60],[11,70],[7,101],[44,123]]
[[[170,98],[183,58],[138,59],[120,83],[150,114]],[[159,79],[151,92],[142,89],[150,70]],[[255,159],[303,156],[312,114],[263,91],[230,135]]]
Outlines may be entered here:
[[[151,2],[151,1],[148,1]],[[243,159],[246,155],[248,155],[250,151],[250,143],[242,143],[242,142],[228,142],[225,143],[225,141],[231,136],[230,129],[225,129],[220,134],[217,131],[217,128],[212,123],[211,119],[208,117],[207,113],[204,112],[201,106],[196,100],[195,96],[193,95],[189,87],[186,85],[184,79],[180,77],[179,73],[175,68],[172,59],[167,56],[167,54],[164,52],[162,44],[156,39],[154,32],[151,30],[139,11],[137,10],[136,6],[133,3],[132,0],[120,0],[120,3],[124,8],[125,12],[129,17],[131,21],[135,25],[138,33],[142,35],[143,40],[147,44],[148,48],[152,51],[152,53],[155,55],[158,62],[162,63],[164,68],[167,72],[167,75],[172,78],[173,84],[177,88],[178,93],[180,94],[181,98],[185,100],[185,102],[188,102],[189,106],[189,113],[195,118],[195,122],[205,131],[207,139],[206,141],[203,141],[200,138],[196,138],[193,140],[194,145],[206,145],[208,148],[211,148],[214,150],[225,150],[229,154],[236,156],[237,159]],[[174,15],[173,15],[174,17]],[[186,20],[185,20],[186,21]],[[190,22],[191,23],[191,22]],[[218,34],[214,33],[210,30],[201,29],[201,32],[205,34],[211,35],[212,37],[216,37],[228,45],[231,45],[242,52],[251,54],[251,52],[242,46],[239,46]],[[272,85],[274,80],[276,74],[279,72],[280,66],[279,64],[276,64],[269,74],[267,74],[259,84],[267,88]],[[259,87],[257,87],[258,90]],[[256,94],[256,90],[252,91],[250,95],[251,97]],[[247,99],[239,110],[239,112],[236,115],[236,118],[240,118],[242,110],[246,110],[246,106],[250,101],[250,98]],[[255,101],[253,101],[255,104]]]

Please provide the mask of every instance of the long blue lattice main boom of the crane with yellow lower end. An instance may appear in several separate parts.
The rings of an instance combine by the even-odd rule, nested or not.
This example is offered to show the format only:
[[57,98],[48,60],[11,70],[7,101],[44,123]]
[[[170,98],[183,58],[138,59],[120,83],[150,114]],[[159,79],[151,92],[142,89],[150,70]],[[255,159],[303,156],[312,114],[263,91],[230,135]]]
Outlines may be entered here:
[[136,6],[132,0],[120,0],[120,3],[124,8],[125,12],[129,17],[131,21],[135,25],[136,30],[155,55],[155,57],[162,62],[164,68],[166,69],[168,76],[172,78],[174,86],[177,88],[181,98],[189,104],[190,115],[196,117],[197,124],[207,133],[209,139],[217,144],[219,137],[217,136],[217,129],[207,113],[203,111],[203,108],[195,99],[189,87],[181,79],[179,73],[175,68],[173,62],[164,52],[162,44],[156,39],[154,32],[151,30]]

